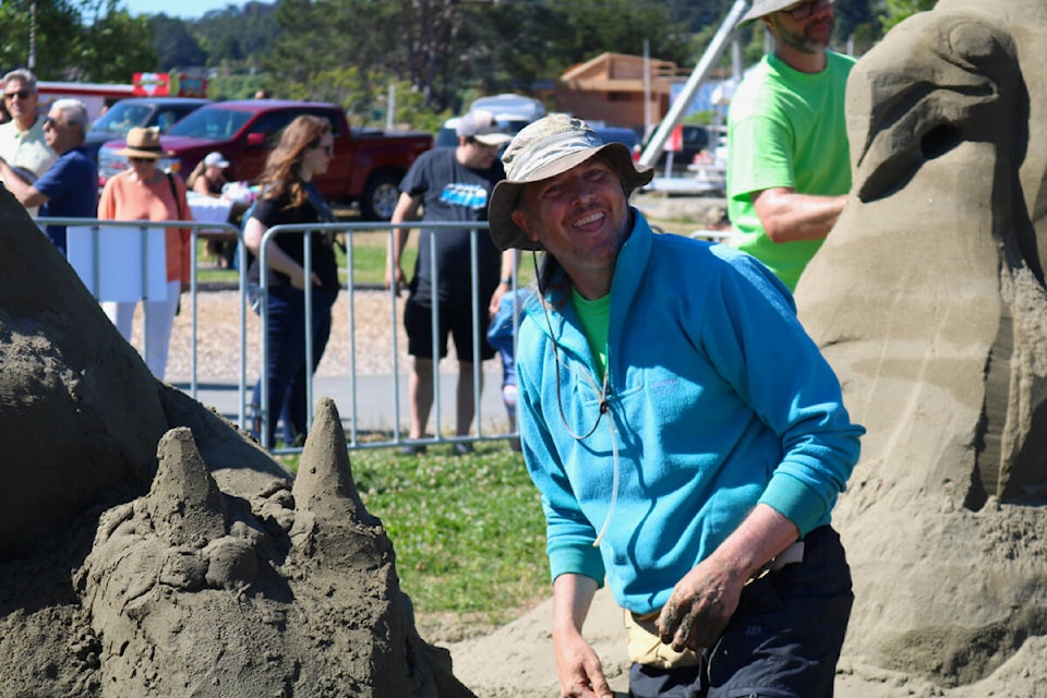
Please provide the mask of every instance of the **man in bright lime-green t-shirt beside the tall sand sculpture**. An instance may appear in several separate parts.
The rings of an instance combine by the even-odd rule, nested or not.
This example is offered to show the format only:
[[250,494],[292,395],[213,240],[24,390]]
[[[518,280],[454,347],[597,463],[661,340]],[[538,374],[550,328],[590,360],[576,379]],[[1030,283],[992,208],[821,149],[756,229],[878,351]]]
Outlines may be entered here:
[[851,189],[844,92],[854,59],[827,50],[832,0],[757,0],[774,51],[742,81],[727,118],[732,243],[790,290],[843,210]]

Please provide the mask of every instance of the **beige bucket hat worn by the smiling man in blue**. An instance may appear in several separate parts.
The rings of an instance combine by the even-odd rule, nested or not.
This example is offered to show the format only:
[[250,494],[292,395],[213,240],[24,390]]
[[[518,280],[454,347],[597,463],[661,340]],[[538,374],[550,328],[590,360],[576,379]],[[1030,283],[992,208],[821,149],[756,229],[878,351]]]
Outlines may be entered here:
[[617,171],[626,196],[654,176],[650,167],[633,161],[633,152],[624,143],[604,143],[589,124],[569,115],[551,113],[513,136],[502,155],[505,179],[491,192],[488,210],[494,244],[500,250],[542,250],[513,221],[524,185],[562,174],[597,155]]

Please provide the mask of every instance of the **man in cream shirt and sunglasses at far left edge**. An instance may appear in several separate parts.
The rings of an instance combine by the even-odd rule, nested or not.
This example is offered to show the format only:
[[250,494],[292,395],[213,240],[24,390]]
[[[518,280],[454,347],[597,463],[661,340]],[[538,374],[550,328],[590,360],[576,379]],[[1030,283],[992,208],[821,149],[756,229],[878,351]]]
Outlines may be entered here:
[[[36,113],[39,95],[36,92],[36,75],[25,68],[13,70],[3,76],[3,105],[11,113],[11,121],[0,124],[0,159],[9,169],[2,179],[9,190],[14,190],[16,177],[22,183],[32,184],[47,171],[58,154],[47,143],[44,119]],[[31,216],[36,216],[38,206],[26,206]]]

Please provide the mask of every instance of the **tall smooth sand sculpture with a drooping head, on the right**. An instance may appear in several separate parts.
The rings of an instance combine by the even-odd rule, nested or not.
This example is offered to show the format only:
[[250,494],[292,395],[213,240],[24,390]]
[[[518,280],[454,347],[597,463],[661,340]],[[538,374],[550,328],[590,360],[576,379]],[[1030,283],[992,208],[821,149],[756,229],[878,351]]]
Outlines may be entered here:
[[1047,635],[1045,57],[1040,0],[940,0],[863,57],[852,196],[797,288],[868,429],[844,653],[941,686]]

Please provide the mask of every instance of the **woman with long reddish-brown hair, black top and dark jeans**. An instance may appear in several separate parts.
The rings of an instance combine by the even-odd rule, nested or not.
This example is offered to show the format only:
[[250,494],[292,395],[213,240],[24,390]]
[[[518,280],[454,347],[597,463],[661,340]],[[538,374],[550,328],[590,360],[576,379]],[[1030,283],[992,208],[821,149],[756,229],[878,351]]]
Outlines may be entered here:
[[[262,237],[278,225],[334,221],[330,208],[316,190],[313,178],[327,171],[334,155],[330,122],[313,116],[294,119],[285,130],[279,145],[269,154],[261,184],[263,193],[243,229],[243,242],[255,260],[248,273],[261,279]],[[330,308],[338,294],[338,267],[334,234],[314,231],[311,238],[312,269],[306,273],[305,234],[277,233],[266,250],[265,366],[268,394],[264,416],[269,447],[277,419],[284,422],[284,442],[300,443],[305,436],[308,414],[306,385],[320,365],[330,337]],[[305,365],[305,288],[312,289],[312,366]],[[262,382],[254,387],[253,402],[261,406]],[[261,436],[261,420],[254,431]]]

